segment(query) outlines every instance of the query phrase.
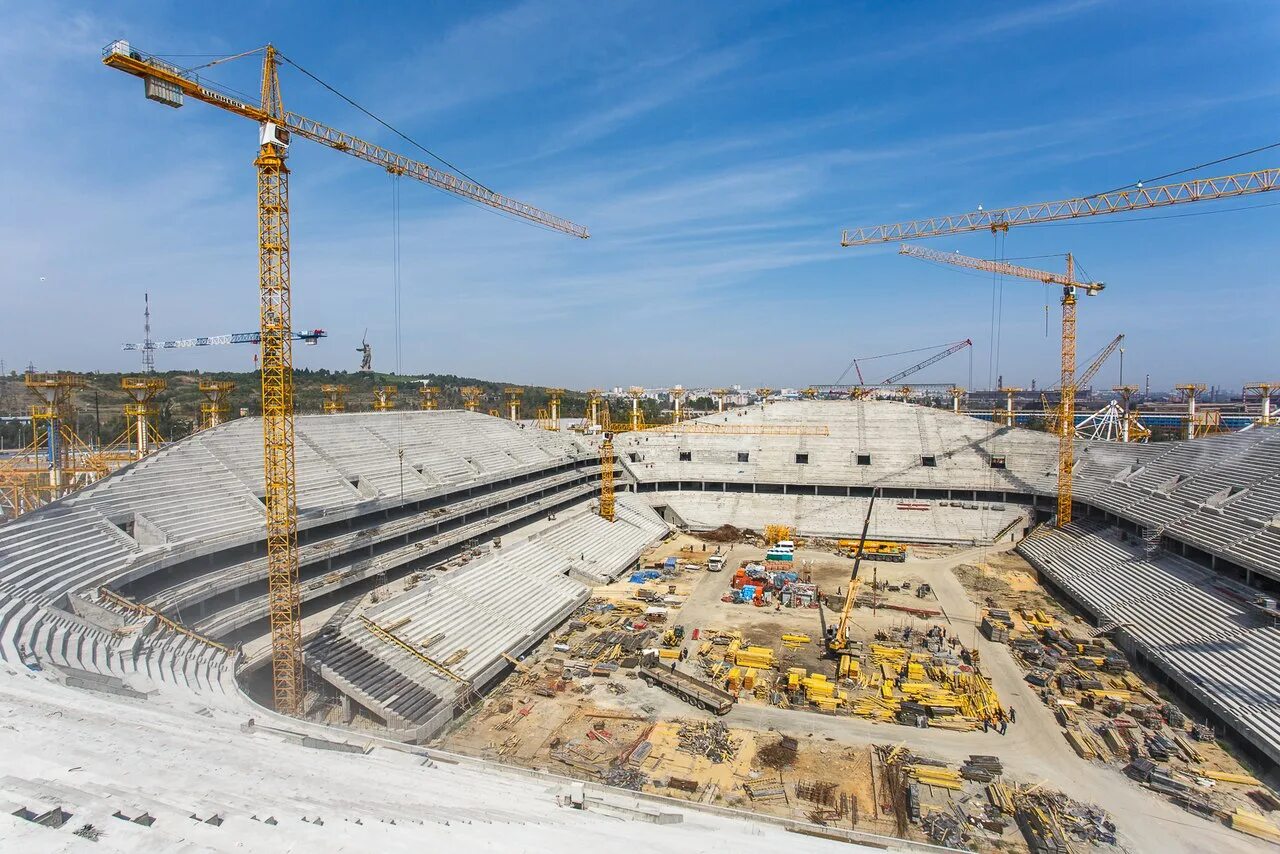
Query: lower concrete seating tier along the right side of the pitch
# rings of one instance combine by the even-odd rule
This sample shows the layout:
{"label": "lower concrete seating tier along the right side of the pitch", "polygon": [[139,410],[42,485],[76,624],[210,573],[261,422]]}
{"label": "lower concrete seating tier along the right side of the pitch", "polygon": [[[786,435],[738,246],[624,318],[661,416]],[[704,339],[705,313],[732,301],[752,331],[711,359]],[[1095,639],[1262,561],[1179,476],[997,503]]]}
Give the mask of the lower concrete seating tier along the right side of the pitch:
{"label": "lower concrete seating tier along the right side of the pitch", "polygon": [[1280,766],[1280,629],[1254,590],[1097,521],[1039,528],[1016,549],[1056,588],[1116,626],[1116,643]]}

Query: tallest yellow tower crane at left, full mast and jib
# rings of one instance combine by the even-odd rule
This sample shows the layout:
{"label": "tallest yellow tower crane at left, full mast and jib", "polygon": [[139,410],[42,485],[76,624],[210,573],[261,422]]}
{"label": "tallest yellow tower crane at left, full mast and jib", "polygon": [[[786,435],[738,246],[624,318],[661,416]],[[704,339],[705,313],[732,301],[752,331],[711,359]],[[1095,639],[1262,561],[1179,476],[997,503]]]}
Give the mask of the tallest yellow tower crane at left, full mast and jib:
{"label": "tallest yellow tower crane at left, full mast and jib", "polygon": [[[142,78],[146,97],[180,108],[186,99],[202,101],[259,125],[257,234],[259,302],[262,347],[262,460],[266,506],[268,612],[271,626],[271,693],[275,711],[302,711],[302,602],[298,592],[298,510],[293,458],[293,352],[289,330],[289,169],[285,164],[294,137],[311,140],[335,151],[381,166],[392,175],[408,177],[467,201],[535,223],[548,229],[586,238],[588,229],[567,219],[516,201],[488,187],[343,131],[284,109],[279,63],[291,63],[274,45],[260,49],[262,76],[260,100],[227,91],[154,55],[118,40],[102,51],[109,68]],[[250,51],[257,52],[257,51]],[[232,59],[232,58],[228,58]],[[294,65],[297,67],[297,65]]]}

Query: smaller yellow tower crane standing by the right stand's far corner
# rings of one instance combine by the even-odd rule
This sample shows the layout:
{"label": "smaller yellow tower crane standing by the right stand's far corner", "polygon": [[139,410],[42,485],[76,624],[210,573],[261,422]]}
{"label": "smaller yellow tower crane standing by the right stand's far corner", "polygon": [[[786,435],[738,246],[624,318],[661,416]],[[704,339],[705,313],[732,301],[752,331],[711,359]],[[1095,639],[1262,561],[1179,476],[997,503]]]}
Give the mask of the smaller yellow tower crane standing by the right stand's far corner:
{"label": "smaller yellow tower crane standing by the right stand's far corner", "polygon": [[[1068,254],[1066,273],[1034,270],[1004,261],[984,261],[955,252],[938,252],[919,246],[902,246],[902,255],[928,261],[942,261],[970,270],[986,270],[1062,287],[1062,379],[1057,424],[1057,524],[1071,521],[1071,467],[1075,461],[1075,291],[1084,288],[1088,296],[1102,291],[1101,282],[1079,282],[1075,278],[1075,259]],[[1009,425],[1012,426],[1012,391],[1009,396]]]}

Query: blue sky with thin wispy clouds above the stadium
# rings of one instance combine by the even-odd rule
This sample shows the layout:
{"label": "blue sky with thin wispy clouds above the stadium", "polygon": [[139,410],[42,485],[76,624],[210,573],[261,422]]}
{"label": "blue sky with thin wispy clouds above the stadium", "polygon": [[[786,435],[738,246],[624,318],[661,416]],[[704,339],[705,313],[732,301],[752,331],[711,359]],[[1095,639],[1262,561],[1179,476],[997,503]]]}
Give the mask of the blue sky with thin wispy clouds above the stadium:
{"label": "blue sky with thin wispy clouds above the stadium", "polygon": [[[850,356],[961,338],[974,387],[1051,383],[1041,286],[1005,282],[997,369],[989,277],[841,248],[841,228],[1085,195],[1280,141],[1270,1],[0,3],[8,367],[134,367],[119,343],[141,338],[145,291],[157,338],[256,328],[256,128],[146,101],[100,63],[116,37],[193,55],[273,41],[486,186],[590,227],[577,241],[401,188],[403,371],[573,388],[823,383]],[[210,76],[253,91],[256,63]],[[282,87],[289,109],[413,154],[297,72]],[[330,332],[296,361],[355,367],[367,328],[393,369],[392,179],[305,142],[291,169],[294,326]],[[1239,388],[1280,374],[1276,205],[927,245],[1073,251],[1107,283],[1082,303],[1082,356],[1124,332],[1126,382]],[[161,369],[251,360],[157,353]],[[919,379],[968,384],[969,360]]]}

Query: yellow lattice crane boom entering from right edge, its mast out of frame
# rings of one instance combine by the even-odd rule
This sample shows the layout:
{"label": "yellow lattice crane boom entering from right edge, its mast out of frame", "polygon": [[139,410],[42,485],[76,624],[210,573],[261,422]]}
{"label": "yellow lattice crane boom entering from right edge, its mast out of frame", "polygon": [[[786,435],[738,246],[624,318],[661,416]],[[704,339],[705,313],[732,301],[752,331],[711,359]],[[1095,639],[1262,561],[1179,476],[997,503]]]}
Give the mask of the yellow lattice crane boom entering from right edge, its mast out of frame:
{"label": "yellow lattice crane boom entering from right edge, its mast out of frame", "polygon": [[841,246],[868,246],[890,241],[914,241],[943,234],[963,234],[965,232],[1007,230],[1012,225],[1030,223],[1052,223],[1083,216],[1103,214],[1126,214],[1152,207],[1167,207],[1213,198],[1235,198],[1280,189],[1280,169],[1244,172],[1221,178],[1196,178],[1175,184],[1138,187],[1096,196],[1064,198],[1061,201],[1036,202],[998,210],[977,210],[951,216],[929,216],[905,223],[869,225],[845,229],[840,236]]}

